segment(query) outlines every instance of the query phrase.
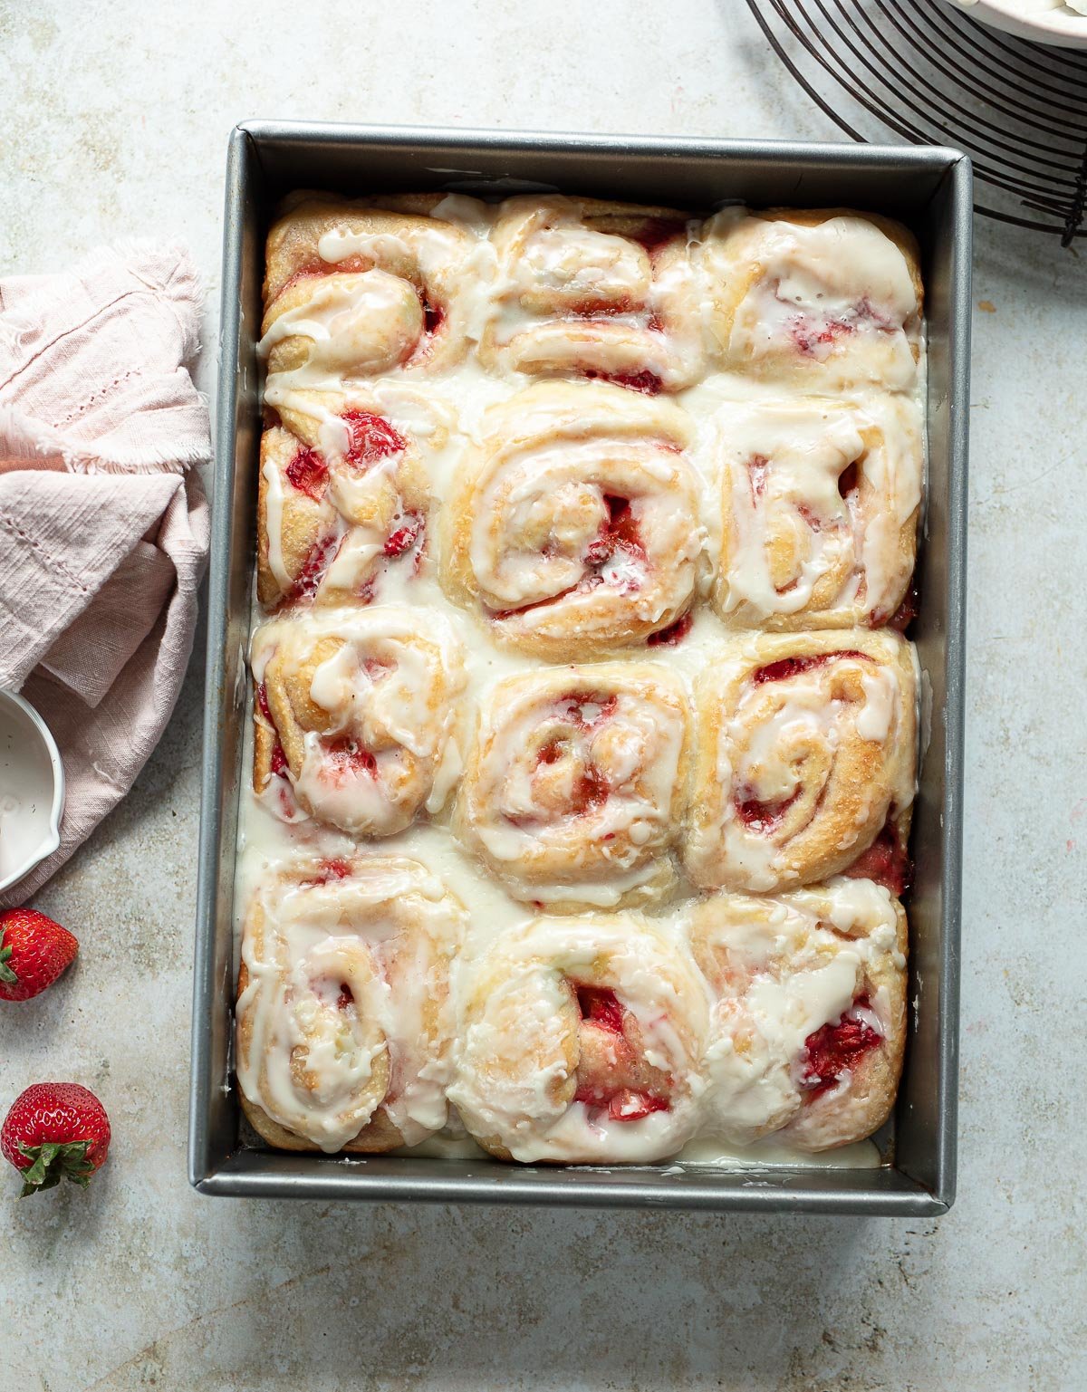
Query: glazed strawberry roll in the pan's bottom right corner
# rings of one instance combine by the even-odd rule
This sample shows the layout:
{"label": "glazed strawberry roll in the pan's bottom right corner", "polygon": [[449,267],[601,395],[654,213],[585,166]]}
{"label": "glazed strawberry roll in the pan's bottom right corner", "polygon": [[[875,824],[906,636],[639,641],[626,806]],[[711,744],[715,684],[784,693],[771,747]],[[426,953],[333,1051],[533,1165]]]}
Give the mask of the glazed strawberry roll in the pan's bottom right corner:
{"label": "glazed strawberry roll in the pan's bottom right corner", "polygon": [[871,1136],[895,1102],[906,1038],[906,915],[867,880],[690,910],[717,997],[706,1125],[818,1151]]}

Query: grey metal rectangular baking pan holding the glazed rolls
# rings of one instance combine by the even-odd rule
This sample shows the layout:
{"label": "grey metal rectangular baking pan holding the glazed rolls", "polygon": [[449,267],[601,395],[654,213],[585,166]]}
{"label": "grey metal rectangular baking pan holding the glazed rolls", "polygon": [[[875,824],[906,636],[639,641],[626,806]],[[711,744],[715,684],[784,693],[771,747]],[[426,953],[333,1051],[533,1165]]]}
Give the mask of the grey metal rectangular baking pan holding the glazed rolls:
{"label": "grey metal rectangular baking pan holding the glazed rolls", "polygon": [[[264,232],[294,188],[558,189],[707,210],[849,206],[907,223],[928,315],[928,511],[913,638],[931,738],[913,818],[910,1015],[894,1141],[875,1169],[633,1169],[284,1154],[239,1141],[231,1073],[232,896],[253,571]],[[526,135],[251,121],[227,160],[219,448],[207,633],[189,1178],[206,1194],[906,1214],[955,1194],[963,784],[970,161],[952,149]]]}

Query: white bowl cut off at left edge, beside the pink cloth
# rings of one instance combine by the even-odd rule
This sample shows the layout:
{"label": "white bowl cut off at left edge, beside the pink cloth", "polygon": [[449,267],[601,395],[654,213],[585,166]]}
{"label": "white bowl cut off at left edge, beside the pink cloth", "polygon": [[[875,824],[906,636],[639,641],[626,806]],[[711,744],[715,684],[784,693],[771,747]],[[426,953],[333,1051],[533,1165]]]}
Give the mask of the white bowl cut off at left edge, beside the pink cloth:
{"label": "white bowl cut off at left edge, beside the pink cloth", "polygon": [[60,845],[64,764],[49,727],[22,696],[0,690],[0,889]]}

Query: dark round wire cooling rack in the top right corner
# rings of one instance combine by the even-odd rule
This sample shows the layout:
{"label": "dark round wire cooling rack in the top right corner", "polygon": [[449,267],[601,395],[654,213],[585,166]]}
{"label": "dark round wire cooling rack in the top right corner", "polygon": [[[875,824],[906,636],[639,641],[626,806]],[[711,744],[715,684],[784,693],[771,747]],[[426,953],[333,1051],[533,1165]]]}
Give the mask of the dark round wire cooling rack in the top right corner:
{"label": "dark round wire cooling rack in the top right corner", "polygon": [[[946,0],[747,0],[781,61],[855,141],[955,145],[978,213],[1087,235],[1087,52],[999,33]],[[1087,25],[1087,19],[1084,19]]]}

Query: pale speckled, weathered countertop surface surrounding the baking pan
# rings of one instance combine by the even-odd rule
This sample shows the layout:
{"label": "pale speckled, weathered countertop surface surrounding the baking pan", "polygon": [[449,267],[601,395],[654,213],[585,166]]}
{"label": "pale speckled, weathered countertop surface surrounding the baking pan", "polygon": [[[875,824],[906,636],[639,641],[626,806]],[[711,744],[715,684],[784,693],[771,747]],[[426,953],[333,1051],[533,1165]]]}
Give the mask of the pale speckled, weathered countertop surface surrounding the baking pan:
{"label": "pale speckled, weathered countertop surface surrounding the baking pan", "polygon": [[[0,269],[182,237],[212,390],[244,117],[835,139],[742,0],[0,0]],[[202,663],[40,895],[78,967],[0,1016],[114,1121],[88,1194],[0,1175],[0,1388],[1087,1385],[1079,1136],[1087,264],[977,228],[962,1162],[939,1222],[202,1199],[185,1182]],[[200,638],[198,636],[198,643]]]}

